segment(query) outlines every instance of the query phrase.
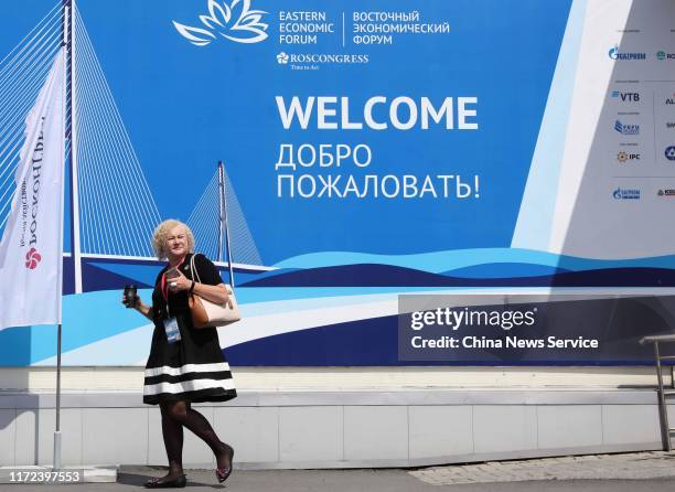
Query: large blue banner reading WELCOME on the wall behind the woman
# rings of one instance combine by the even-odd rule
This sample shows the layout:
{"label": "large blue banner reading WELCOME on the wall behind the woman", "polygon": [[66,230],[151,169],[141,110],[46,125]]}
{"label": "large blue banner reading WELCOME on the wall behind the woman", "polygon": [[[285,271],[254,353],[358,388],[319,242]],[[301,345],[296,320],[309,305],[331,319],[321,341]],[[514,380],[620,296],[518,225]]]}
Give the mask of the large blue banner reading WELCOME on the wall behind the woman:
{"label": "large blue banner reading WELCOME on the wall behind the woman", "polygon": [[[186,222],[227,277],[217,161],[244,313],[219,331],[233,364],[409,364],[401,293],[675,285],[656,225],[675,194],[668,28],[629,29],[663,9],[78,0],[64,363],[144,363],[152,329],[119,296],[136,284],[149,300],[160,220]],[[0,12],[11,136],[63,12],[50,0]],[[14,150],[2,151],[4,179]],[[628,170],[646,156],[663,169]],[[12,185],[0,183],[4,201]],[[1,364],[55,363],[54,328],[0,342]]]}

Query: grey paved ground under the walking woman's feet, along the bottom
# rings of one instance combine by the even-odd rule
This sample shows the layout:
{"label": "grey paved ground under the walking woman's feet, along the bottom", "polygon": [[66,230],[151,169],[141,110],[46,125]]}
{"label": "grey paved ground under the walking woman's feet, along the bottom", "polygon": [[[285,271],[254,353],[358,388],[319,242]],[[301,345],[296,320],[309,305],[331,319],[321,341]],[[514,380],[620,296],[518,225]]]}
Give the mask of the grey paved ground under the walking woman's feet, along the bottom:
{"label": "grey paved ground under the walking woman's feet, along the bottom", "polygon": [[[144,490],[156,467],[122,467],[117,483],[0,485],[0,491]],[[213,471],[189,470],[188,490],[246,492],[672,492],[675,453],[643,452],[518,460],[418,470],[235,470],[227,485]]]}

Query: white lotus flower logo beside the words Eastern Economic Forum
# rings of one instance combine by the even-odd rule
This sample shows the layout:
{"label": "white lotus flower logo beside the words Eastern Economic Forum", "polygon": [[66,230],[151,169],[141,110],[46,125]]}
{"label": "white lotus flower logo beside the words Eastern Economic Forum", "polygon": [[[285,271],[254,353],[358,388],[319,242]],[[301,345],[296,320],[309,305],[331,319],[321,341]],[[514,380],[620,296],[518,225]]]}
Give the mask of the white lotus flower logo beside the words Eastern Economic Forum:
{"label": "white lotus flower logo beside the words Eastern Economic Forum", "polygon": [[267,12],[250,10],[250,0],[232,0],[228,6],[208,0],[210,15],[200,15],[208,29],[191,28],[172,21],[178,32],[196,46],[205,46],[217,39],[216,34],[236,43],[259,43],[267,39],[268,25],[260,22]]}

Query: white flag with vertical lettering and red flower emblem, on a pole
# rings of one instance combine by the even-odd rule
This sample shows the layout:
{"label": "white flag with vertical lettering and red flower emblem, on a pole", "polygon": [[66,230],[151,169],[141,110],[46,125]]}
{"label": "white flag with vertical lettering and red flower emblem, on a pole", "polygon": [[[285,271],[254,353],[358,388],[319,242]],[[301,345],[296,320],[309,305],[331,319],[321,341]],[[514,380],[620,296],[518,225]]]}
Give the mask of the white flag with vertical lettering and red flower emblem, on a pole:
{"label": "white flag with vertical lettering and red flower emblem, on a pole", "polygon": [[0,240],[0,330],[61,323],[64,107],[61,49],[25,119],[17,192]]}

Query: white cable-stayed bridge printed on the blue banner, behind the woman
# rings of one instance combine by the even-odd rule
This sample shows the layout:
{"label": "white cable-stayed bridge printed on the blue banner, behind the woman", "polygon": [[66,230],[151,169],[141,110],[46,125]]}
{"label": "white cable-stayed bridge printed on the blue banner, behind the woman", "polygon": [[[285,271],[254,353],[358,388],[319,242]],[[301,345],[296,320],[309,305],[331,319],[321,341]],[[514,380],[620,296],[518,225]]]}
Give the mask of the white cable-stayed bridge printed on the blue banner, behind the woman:
{"label": "white cable-stayed bridge printed on the blue banner, behind the woman", "polygon": [[[25,117],[62,45],[63,15],[57,2],[0,61],[0,236],[15,192]],[[64,293],[117,289],[128,282],[151,286],[160,261],[150,238],[162,215],[76,7],[72,19],[66,94],[72,118],[68,114],[65,152],[71,164],[66,169],[73,172],[66,186]],[[228,267],[223,210],[234,270],[243,278],[270,270],[262,265],[226,171],[214,172],[192,213],[185,214],[197,250],[219,268]]]}

